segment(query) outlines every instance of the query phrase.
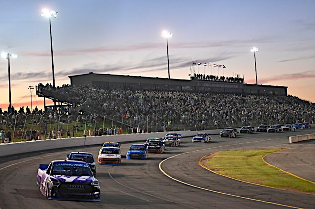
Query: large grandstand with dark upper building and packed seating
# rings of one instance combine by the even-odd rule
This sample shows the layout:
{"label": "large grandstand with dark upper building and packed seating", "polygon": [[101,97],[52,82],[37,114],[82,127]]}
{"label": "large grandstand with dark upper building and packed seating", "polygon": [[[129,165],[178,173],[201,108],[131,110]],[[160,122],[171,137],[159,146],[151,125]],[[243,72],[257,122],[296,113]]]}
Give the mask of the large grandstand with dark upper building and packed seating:
{"label": "large grandstand with dark upper building and packed seating", "polygon": [[314,104],[287,96],[283,86],[94,73],[69,78],[71,85],[63,87],[39,84],[36,94],[69,106],[72,118],[84,122],[98,115],[96,120],[104,117],[126,132],[138,126],[149,132],[256,127],[312,121],[315,116]]}

